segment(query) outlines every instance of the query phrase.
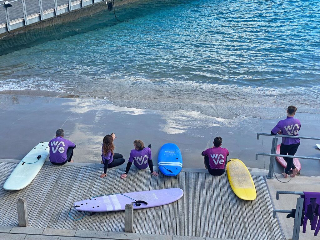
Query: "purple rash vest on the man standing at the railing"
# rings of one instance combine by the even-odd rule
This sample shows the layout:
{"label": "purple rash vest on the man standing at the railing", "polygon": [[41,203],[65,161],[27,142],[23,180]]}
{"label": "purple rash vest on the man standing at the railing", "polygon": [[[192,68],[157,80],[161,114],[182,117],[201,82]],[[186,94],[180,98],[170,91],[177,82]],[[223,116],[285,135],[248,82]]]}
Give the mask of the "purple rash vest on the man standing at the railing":
{"label": "purple rash vest on the man standing at the railing", "polygon": [[[301,123],[299,119],[293,117],[287,117],[284,120],[280,120],[276,127],[274,127],[271,132],[277,134],[281,130],[282,135],[288,136],[299,136],[298,132],[301,128]],[[282,143],[284,145],[291,145],[300,143],[299,138],[289,138],[289,137],[282,137]]]}

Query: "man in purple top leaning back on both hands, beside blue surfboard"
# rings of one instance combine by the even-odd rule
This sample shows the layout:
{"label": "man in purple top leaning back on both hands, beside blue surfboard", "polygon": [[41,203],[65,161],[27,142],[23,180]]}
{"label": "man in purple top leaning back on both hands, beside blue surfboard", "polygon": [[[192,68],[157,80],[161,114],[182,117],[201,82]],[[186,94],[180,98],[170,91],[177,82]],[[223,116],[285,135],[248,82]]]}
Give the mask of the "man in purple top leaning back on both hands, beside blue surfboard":
{"label": "man in purple top leaning back on both hands, beside blue surfboard", "polygon": [[149,145],[148,147],[144,147],[144,143],[141,140],[135,140],[133,142],[133,145],[134,149],[131,150],[127,167],[124,174],[122,174],[120,178],[124,179],[127,177],[132,162],[138,169],[146,169],[149,166],[151,174],[154,176],[159,176],[157,172],[153,171],[152,155],[150,149],[151,145]]}

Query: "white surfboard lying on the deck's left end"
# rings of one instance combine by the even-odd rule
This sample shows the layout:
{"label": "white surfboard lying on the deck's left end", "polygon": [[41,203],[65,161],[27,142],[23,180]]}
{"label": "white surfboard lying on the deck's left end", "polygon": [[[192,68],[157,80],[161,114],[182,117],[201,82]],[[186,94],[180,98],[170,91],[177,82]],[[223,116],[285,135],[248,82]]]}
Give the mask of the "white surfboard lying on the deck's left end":
{"label": "white surfboard lying on the deck's left end", "polygon": [[3,185],[5,190],[20,190],[32,182],[49,154],[48,144],[40,142],[19,162]]}

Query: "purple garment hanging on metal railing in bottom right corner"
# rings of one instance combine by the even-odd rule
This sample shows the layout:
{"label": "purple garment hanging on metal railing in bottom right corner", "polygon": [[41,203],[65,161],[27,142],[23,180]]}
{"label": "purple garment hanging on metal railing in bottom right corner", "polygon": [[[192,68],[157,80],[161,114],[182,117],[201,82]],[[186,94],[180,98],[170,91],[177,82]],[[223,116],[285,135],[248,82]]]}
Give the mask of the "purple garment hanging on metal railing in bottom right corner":
{"label": "purple garment hanging on metal railing in bottom right corner", "polygon": [[[302,232],[306,233],[307,222],[310,220],[311,230],[315,230],[315,236],[319,232],[317,227],[320,228],[319,217],[319,205],[320,205],[320,193],[315,192],[303,192],[304,193],[304,210],[305,216],[303,219]],[[318,224],[317,224],[318,222]],[[317,226],[318,225],[318,226]]]}

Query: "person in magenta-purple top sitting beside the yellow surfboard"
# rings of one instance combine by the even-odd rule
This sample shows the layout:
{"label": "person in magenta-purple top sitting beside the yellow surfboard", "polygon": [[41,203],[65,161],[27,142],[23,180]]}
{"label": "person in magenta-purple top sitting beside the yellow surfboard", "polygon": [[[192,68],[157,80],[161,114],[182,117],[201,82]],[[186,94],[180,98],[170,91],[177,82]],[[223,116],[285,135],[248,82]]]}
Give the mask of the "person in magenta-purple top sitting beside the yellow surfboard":
{"label": "person in magenta-purple top sitting beside the yellow surfboard", "polygon": [[212,148],[201,153],[204,156],[204,166],[213,176],[220,176],[226,171],[227,156],[229,151],[227,148],[222,148],[222,138],[215,137]]}

